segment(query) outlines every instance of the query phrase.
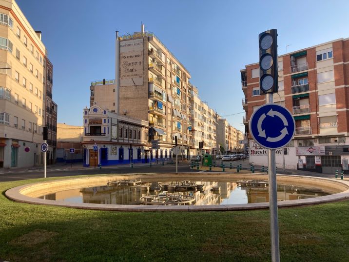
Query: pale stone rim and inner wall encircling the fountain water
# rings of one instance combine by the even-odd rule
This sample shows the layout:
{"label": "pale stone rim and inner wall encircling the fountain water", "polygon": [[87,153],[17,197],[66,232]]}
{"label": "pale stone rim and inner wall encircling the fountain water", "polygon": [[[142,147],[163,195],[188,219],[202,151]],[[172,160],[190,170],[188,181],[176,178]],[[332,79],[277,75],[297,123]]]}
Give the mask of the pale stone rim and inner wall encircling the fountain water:
{"label": "pale stone rim and inner wall encircling the fountain water", "polygon": [[[266,209],[269,208],[269,202],[250,203],[250,204],[224,204],[224,205],[184,205],[184,206],[153,206],[153,205],[119,205],[119,204],[94,204],[94,203],[67,203],[64,201],[52,201],[37,198],[45,195],[45,192],[54,192],[55,188],[78,188],[84,186],[97,186],[106,184],[109,180],[116,179],[136,179],[141,178],[145,181],[155,179],[161,180],[202,180],[202,181],[231,181],[242,179],[268,179],[268,174],[262,173],[146,173],[146,174],[110,174],[110,175],[90,175],[78,178],[58,179],[50,181],[42,181],[31,184],[25,184],[8,189],[5,195],[15,202],[24,202],[31,204],[44,204],[71,207],[78,209],[91,210],[109,210],[109,211],[232,211],[232,210],[249,210],[249,209]],[[199,178],[199,179],[198,179]],[[341,201],[349,199],[349,181],[299,176],[299,175],[277,175],[277,183],[297,184],[297,185],[313,185],[318,187],[326,187],[328,190],[338,191],[327,196],[279,201],[278,207],[302,206],[310,204],[319,204],[326,202]],[[66,189],[65,188],[65,189]],[[27,196],[32,195],[32,196]],[[35,197],[33,197],[33,195]]]}

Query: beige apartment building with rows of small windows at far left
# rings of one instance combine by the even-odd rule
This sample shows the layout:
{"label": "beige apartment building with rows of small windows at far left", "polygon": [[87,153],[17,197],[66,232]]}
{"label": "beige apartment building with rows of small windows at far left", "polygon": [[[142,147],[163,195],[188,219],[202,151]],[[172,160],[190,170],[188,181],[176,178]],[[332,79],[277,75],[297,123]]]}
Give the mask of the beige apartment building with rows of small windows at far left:
{"label": "beige apartment building with rows of small windows at far left", "polygon": [[[0,0],[0,167],[43,163],[46,54],[41,32],[32,28],[17,3]],[[52,141],[55,136],[51,132]],[[54,146],[50,143],[51,152]]]}

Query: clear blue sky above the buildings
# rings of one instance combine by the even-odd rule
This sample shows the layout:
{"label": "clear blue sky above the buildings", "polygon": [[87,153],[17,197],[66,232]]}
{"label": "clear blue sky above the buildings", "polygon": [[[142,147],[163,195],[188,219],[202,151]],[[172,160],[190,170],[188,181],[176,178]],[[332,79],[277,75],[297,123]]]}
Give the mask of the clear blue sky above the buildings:
{"label": "clear blue sky above the buildings", "polygon": [[[82,125],[90,82],[115,78],[115,31],[146,31],[184,64],[220,115],[243,112],[240,69],[258,61],[258,34],[278,30],[278,53],[349,37],[348,0],[17,0],[54,65],[58,122]],[[261,14],[266,14],[262,17]],[[227,117],[244,131],[243,114]]]}

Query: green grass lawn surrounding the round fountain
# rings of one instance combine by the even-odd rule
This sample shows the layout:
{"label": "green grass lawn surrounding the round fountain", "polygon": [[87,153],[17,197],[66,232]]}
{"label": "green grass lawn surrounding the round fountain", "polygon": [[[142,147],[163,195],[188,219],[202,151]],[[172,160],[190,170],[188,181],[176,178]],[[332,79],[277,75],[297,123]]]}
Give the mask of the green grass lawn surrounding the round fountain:
{"label": "green grass lawn surrounding the round fountain", "polygon": [[[269,262],[269,210],[110,212],[12,202],[0,183],[0,259],[10,262]],[[282,262],[348,262],[349,201],[279,209]]]}

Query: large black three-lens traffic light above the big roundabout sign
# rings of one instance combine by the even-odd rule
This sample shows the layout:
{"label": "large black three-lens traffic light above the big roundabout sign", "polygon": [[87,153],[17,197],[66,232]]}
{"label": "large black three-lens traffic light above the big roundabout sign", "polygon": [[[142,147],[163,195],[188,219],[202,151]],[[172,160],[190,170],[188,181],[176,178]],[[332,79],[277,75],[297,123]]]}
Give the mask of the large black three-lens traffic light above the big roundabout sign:
{"label": "large black three-lens traffic light above the big roundabout sign", "polygon": [[278,91],[276,29],[259,34],[259,88],[261,94]]}

